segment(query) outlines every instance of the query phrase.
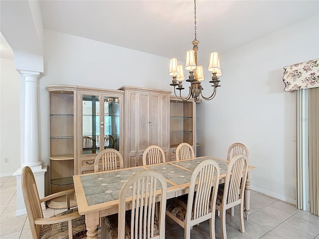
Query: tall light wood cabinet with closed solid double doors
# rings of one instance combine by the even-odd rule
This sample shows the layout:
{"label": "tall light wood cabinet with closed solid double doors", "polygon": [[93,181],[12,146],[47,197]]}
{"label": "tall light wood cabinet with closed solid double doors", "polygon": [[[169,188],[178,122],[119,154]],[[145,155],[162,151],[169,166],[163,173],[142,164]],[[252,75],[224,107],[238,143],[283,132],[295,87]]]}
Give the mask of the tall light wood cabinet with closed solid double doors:
{"label": "tall light wood cabinet with closed solid double doors", "polygon": [[124,86],[125,149],[124,166],[143,165],[143,152],[150,145],[160,146],[169,155],[170,91]]}

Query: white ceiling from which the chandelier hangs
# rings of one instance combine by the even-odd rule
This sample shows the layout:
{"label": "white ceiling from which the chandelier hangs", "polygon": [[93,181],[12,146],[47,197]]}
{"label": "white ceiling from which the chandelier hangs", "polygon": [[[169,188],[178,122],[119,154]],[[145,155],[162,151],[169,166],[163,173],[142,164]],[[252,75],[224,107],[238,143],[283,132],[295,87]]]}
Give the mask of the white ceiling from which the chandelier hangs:
{"label": "white ceiling from which the chandelier hangs", "polygon": [[[192,0],[40,0],[40,9],[45,29],[182,61],[192,48]],[[315,14],[318,0],[197,0],[198,58]]]}

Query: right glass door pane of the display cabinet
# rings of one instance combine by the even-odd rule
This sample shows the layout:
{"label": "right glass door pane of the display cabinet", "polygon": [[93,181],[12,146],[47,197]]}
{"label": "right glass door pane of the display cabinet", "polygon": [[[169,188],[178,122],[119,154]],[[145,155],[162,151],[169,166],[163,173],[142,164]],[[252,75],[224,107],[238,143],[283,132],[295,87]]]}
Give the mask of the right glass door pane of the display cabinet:
{"label": "right glass door pane of the display cabinet", "polygon": [[104,148],[120,150],[120,99],[104,96]]}

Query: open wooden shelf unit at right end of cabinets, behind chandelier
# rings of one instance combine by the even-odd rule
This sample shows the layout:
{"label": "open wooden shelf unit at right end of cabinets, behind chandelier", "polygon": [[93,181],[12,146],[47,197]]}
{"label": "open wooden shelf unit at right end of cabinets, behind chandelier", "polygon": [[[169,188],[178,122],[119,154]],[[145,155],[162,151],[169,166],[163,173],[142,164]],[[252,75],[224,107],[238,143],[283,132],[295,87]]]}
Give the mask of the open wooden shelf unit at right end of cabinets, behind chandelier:
{"label": "open wooden shelf unit at right end of cabinets, behind chandelier", "polygon": [[197,146],[200,144],[197,143],[196,104],[193,99],[182,101],[170,96],[169,147],[171,161],[176,160],[176,147],[183,142],[191,145],[194,155],[197,155]]}

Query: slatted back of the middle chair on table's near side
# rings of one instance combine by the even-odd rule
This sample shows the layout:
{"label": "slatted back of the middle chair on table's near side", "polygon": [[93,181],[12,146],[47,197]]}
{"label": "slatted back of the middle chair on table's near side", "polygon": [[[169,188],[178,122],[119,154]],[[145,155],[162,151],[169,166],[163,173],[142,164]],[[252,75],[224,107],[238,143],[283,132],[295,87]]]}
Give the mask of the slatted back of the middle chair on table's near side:
{"label": "slatted back of the middle chair on table's near side", "polygon": [[[219,166],[216,161],[212,159],[201,162],[195,168],[190,179],[185,221],[191,219],[192,211],[192,220],[203,217],[209,213],[215,214],[219,176]],[[196,181],[197,188],[194,197]]]}

